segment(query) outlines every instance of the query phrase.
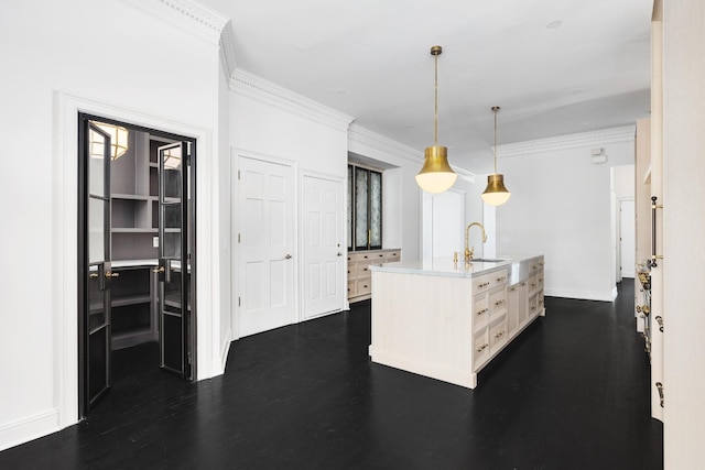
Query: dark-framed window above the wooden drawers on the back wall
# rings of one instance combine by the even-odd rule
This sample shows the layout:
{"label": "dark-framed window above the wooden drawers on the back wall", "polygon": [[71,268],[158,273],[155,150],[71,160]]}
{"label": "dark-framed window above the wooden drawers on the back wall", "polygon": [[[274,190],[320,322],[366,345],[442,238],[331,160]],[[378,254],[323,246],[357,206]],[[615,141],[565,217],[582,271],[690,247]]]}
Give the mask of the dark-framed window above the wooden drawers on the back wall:
{"label": "dark-framed window above the wooden drawers on the back wall", "polygon": [[382,173],[348,165],[348,250],[382,248]]}

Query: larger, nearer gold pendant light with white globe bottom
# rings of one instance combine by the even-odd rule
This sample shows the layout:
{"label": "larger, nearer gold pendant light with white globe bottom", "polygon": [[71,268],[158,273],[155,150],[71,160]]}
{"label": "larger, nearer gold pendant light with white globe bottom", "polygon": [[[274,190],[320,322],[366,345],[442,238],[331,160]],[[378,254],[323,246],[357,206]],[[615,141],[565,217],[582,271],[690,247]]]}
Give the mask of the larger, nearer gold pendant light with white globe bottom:
{"label": "larger, nearer gold pendant light with white globe bottom", "polygon": [[416,184],[426,193],[444,193],[455,184],[458,175],[448,164],[448,149],[438,145],[438,55],[441,46],[431,47],[431,55],[435,58],[435,107],[433,114],[433,146],[424,152],[423,166],[416,175]]}

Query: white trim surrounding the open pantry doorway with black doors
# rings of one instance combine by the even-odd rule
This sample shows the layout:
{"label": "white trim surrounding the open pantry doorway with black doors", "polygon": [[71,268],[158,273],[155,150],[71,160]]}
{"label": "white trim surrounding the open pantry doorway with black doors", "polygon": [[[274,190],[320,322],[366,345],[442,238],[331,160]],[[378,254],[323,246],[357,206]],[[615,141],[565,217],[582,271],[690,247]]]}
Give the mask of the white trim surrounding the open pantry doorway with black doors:
{"label": "white trim surrounding the open pantry doorway with black doors", "polygon": [[[215,175],[212,155],[210,132],[203,128],[145,114],[105,102],[54,92],[54,168],[52,188],[52,226],[54,256],[52,259],[52,298],[56,305],[53,329],[54,342],[54,403],[57,412],[56,427],[64,428],[78,420],[78,113],[101,116],[106,119],[130,122],[144,128],[184,135],[196,140],[198,172],[196,172],[196,318],[197,380],[223,373],[214,363],[213,350],[217,345],[219,323],[214,318],[213,298],[219,296],[217,280],[219,266],[210,241],[218,233],[213,215],[213,200],[217,199],[218,185],[210,184]],[[217,247],[217,243],[216,243]],[[209,288],[208,288],[209,287]],[[215,340],[214,340],[215,338]],[[219,349],[219,348],[218,348]]]}

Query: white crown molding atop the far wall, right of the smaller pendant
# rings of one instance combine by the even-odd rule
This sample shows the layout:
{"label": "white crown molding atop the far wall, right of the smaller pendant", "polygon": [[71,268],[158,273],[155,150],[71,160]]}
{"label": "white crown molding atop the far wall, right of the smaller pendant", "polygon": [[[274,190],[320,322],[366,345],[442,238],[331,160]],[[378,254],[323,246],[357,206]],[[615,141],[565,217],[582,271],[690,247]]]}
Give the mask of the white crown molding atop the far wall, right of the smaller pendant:
{"label": "white crown molding atop the far wall, right of the smaller pendant", "polygon": [[560,150],[605,145],[610,143],[633,142],[636,131],[636,125],[622,125],[619,128],[603,129],[599,131],[581,132],[576,134],[497,145],[497,157],[500,159],[529,155],[533,153],[555,152]]}

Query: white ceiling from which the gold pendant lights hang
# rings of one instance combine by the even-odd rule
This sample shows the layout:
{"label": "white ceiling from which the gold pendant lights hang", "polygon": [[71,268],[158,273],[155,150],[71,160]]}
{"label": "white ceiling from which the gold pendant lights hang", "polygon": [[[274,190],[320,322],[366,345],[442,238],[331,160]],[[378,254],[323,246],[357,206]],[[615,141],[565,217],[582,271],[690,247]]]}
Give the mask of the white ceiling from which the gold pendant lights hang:
{"label": "white ceiling from which the gold pendant lights hang", "polygon": [[492,106],[499,144],[649,114],[651,0],[200,1],[232,20],[238,68],[419,151],[443,46],[438,144],[476,174],[491,173]]}

